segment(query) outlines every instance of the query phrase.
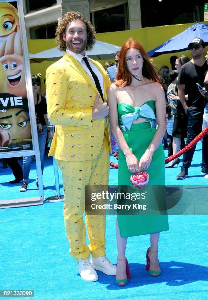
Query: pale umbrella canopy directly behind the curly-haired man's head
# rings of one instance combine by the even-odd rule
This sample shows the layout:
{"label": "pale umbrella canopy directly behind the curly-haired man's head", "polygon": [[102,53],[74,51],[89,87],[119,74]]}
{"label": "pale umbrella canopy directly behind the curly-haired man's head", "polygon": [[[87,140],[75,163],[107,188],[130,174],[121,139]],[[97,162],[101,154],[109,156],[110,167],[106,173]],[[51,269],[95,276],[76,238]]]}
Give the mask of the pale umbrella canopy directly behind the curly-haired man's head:
{"label": "pale umbrella canopy directly behind the curly-haired man's head", "polygon": [[[121,49],[120,46],[96,41],[91,51],[87,51],[86,54],[93,59],[112,59],[115,53]],[[65,52],[58,50],[57,47],[36,53],[29,54],[31,60],[43,61],[43,60],[57,60],[62,57]]]}

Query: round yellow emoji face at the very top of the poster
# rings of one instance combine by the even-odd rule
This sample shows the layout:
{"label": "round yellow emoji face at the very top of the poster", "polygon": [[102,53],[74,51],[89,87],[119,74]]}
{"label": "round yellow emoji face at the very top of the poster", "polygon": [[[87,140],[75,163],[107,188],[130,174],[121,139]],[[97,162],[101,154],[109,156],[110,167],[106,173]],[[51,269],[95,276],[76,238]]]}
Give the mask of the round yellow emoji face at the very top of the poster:
{"label": "round yellow emoji face at the very top of the poster", "polygon": [[0,45],[11,33],[17,32],[18,25],[17,9],[10,3],[0,3]]}

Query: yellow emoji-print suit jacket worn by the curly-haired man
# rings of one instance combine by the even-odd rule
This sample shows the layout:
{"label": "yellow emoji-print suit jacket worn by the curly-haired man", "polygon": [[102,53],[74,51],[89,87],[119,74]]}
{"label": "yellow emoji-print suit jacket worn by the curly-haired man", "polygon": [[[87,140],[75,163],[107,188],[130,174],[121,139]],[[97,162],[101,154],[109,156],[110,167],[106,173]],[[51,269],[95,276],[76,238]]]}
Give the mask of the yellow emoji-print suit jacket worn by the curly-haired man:
{"label": "yellow emoji-print suit jacket worn by the curly-haired man", "polygon": [[[91,61],[103,75],[106,101],[109,76],[100,63]],[[92,120],[99,92],[90,75],[70,54],[64,54],[46,70],[46,93],[48,116],[56,125],[49,156],[66,161],[92,160],[98,156],[104,138],[111,150],[108,121],[105,125],[105,119]]]}

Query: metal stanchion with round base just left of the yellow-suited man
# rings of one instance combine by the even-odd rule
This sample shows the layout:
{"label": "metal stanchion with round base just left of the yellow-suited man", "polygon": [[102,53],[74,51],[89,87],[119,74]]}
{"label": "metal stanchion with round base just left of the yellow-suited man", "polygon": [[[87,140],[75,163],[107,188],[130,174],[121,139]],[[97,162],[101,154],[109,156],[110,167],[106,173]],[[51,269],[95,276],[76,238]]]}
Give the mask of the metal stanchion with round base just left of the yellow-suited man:
{"label": "metal stanchion with round base just left of the yellow-suited man", "polygon": [[[55,132],[55,125],[49,125],[48,127],[50,128],[50,138],[52,141]],[[54,157],[53,157],[53,171],[54,171],[54,178],[55,178],[56,195],[46,198],[45,202],[62,202],[64,195],[61,195],[60,192],[58,166],[56,163],[56,159]]]}

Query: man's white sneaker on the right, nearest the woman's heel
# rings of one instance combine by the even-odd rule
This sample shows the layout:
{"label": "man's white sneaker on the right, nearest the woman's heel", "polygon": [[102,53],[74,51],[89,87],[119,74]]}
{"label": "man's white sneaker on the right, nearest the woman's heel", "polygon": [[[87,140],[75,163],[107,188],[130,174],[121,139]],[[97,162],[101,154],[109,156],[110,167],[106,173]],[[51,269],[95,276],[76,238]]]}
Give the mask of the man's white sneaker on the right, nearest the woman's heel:
{"label": "man's white sneaker on the right, nearest the woman's heel", "polygon": [[99,270],[107,275],[116,276],[116,266],[112,265],[106,256],[92,257],[90,262],[95,270]]}

